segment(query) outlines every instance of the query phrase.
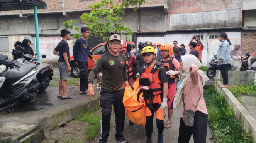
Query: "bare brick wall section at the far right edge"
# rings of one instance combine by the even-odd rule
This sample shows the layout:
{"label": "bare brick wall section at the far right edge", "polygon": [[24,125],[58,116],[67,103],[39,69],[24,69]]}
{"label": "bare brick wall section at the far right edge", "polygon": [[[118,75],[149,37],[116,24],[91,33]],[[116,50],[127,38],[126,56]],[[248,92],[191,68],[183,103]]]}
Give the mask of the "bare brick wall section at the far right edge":
{"label": "bare brick wall section at the far right edge", "polygon": [[243,54],[256,51],[256,31],[242,31],[241,48]]}

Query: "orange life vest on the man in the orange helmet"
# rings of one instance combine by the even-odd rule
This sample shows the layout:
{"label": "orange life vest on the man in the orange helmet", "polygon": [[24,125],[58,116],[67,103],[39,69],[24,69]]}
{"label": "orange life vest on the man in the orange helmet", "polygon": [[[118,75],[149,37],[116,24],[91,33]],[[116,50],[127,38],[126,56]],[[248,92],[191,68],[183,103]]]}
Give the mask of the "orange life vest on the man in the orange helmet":
{"label": "orange life vest on the man in the orange helmet", "polygon": [[[159,62],[162,63],[162,66],[164,67],[165,71],[175,70],[175,67],[174,67],[174,64],[173,64],[173,58],[174,57],[170,57],[170,59],[168,61],[166,61],[167,63],[163,63],[163,58],[161,58],[159,60]],[[168,75],[168,84],[175,83],[175,78],[177,78],[176,75],[173,75],[173,76]]]}

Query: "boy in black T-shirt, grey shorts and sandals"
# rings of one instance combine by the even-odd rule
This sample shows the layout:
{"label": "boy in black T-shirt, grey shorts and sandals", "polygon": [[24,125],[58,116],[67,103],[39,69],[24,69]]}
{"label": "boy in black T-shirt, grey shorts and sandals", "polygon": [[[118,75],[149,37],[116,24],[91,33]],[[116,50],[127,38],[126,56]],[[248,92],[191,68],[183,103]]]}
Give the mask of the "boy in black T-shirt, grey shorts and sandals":
{"label": "boy in black T-shirt, grey shorts and sandals", "polygon": [[70,40],[70,31],[63,29],[61,30],[62,40],[59,42],[57,47],[53,50],[53,54],[59,56],[58,67],[60,73],[59,80],[59,95],[61,99],[72,99],[72,96],[66,94],[67,90],[67,80],[68,72],[71,71],[70,67],[70,48],[68,46],[67,40]]}

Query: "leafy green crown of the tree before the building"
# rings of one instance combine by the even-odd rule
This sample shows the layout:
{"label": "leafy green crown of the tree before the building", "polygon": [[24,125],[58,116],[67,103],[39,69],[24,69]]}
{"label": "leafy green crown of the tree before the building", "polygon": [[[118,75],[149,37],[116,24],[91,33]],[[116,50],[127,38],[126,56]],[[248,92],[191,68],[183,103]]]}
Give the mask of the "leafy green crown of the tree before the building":
{"label": "leafy green crown of the tree before the building", "polygon": [[[116,4],[113,0],[102,0],[101,3],[95,3],[89,5],[92,10],[90,13],[83,13],[80,19],[87,23],[87,27],[90,29],[90,36],[100,37],[104,43],[108,43],[110,36],[112,34],[127,33],[132,35],[132,30],[128,26],[124,26],[122,21],[122,16],[125,10],[132,6],[134,11],[140,8],[145,0],[119,0]],[[105,21],[104,23],[102,21]],[[64,22],[65,28],[73,29],[73,25],[76,25],[76,20],[68,20]],[[81,33],[79,27],[75,27],[79,33],[75,33],[73,38],[80,38]]]}

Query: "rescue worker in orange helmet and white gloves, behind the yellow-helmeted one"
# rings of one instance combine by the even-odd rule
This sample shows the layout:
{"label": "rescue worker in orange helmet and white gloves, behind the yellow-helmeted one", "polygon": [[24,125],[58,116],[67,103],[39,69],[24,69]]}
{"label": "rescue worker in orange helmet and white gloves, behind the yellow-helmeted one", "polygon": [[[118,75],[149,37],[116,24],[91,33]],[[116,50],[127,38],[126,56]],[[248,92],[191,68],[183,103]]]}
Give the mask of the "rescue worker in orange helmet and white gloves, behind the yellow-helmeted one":
{"label": "rescue worker in orange helmet and white gloves, behind the yellow-helmeted one", "polygon": [[[178,75],[178,71],[180,70],[180,63],[176,58],[171,57],[171,54],[173,53],[173,47],[170,44],[163,44],[160,47],[160,52],[163,58],[159,60],[159,62],[162,63],[162,66],[164,67],[166,74],[168,76],[168,98],[167,101],[168,105],[168,119],[166,121],[166,124],[164,128],[171,128],[171,117],[173,115],[173,99],[176,94],[176,78]],[[171,76],[170,76],[170,75]],[[175,76],[176,75],[176,76]]]}

